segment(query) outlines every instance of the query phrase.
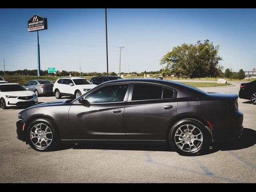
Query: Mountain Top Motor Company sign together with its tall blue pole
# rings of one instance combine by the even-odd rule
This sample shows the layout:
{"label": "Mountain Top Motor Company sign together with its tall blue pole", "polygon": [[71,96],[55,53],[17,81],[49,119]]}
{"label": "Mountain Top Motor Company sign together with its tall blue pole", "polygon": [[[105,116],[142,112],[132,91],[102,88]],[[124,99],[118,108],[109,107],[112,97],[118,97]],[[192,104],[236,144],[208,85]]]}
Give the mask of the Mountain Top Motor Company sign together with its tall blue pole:
{"label": "Mountain Top Motor Company sign together with its tall blue pole", "polygon": [[39,46],[39,30],[47,29],[47,18],[34,15],[28,20],[28,32],[37,32],[37,76],[40,76],[40,46]]}

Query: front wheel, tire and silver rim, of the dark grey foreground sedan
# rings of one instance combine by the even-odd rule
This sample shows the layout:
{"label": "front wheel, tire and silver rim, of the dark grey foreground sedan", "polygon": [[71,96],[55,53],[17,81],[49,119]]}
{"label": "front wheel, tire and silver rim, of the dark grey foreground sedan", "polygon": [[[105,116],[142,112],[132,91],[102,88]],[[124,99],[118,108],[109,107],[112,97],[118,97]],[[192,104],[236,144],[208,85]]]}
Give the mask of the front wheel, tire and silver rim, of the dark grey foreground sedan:
{"label": "front wheel, tire and silver rim, of the dark grey foreground sedan", "polygon": [[48,151],[59,144],[58,134],[51,120],[40,118],[33,120],[26,131],[26,141],[35,150]]}

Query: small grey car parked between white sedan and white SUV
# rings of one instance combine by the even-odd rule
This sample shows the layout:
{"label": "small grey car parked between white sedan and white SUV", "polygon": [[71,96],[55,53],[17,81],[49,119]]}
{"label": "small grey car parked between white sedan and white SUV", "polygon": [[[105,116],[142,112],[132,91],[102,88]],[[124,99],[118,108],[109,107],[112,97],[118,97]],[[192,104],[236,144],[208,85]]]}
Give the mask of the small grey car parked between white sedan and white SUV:
{"label": "small grey car parked between white sedan and white SUV", "polygon": [[32,80],[24,84],[23,87],[34,92],[37,96],[41,94],[52,94],[53,82],[45,79]]}

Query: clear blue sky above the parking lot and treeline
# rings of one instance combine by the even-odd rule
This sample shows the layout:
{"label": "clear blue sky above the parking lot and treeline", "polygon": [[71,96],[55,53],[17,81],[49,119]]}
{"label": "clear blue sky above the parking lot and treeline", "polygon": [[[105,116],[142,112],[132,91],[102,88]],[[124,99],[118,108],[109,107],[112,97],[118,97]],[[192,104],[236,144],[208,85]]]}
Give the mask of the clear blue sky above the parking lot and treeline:
{"label": "clear blue sky above the parking lot and treeline", "polygon": [[[0,9],[0,70],[37,69],[37,33],[28,20],[48,20],[39,31],[41,69],[106,72],[104,9]],[[256,9],[107,9],[108,70],[160,70],[174,46],[210,40],[233,71],[256,67]]]}

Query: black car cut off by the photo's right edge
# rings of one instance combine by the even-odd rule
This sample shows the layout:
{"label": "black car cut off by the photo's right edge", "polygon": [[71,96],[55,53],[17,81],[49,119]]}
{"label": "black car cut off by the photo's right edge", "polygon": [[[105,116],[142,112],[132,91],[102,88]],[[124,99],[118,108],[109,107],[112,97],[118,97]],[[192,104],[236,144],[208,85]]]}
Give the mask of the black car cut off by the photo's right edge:
{"label": "black car cut off by the photo's right edge", "polygon": [[240,85],[239,98],[251,100],[256,104],[256,80]]}

